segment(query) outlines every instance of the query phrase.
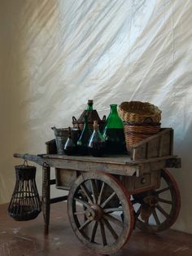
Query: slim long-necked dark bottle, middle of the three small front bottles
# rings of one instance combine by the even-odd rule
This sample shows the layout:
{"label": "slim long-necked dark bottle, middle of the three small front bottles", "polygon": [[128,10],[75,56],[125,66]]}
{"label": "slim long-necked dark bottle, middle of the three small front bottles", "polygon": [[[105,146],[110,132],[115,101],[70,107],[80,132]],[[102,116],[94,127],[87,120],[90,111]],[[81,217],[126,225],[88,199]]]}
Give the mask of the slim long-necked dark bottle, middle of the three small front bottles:
{"label": "slim long-necked dark bottle, middle of the three small front bottles", "polygon": [[80,139],[78,139],[77,141],[77,150],[81,155],[87,155],[89,153],[88,143],[89,143],[90,135],[91,135],[91,131],[89,130],[88,117],[86,115],[84,128],[81,132]]}

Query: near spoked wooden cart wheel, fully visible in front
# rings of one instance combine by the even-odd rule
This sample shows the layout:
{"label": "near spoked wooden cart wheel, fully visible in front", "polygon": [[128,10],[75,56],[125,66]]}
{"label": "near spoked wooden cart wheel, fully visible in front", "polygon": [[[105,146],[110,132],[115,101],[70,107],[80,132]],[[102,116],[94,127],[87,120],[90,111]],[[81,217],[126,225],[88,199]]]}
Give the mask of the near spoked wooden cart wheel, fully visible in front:
{"label": "near spoked wooden cart wheel, fully visible in front", "polygon": [[128,193],[113,176],[100,171],[81,174],[72,184],[68,217],[79,240],[98,254],[116,252],[133,231]]}

